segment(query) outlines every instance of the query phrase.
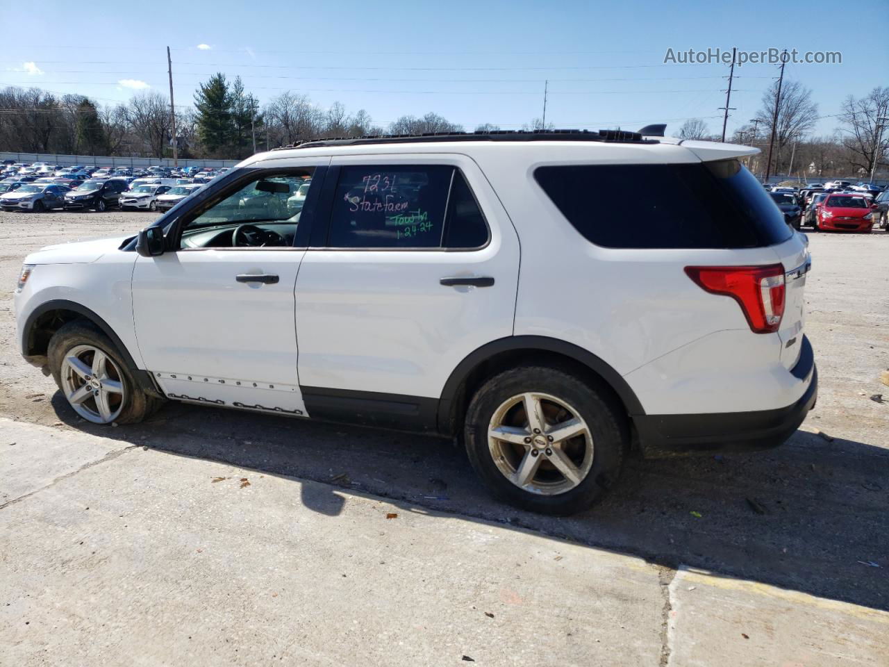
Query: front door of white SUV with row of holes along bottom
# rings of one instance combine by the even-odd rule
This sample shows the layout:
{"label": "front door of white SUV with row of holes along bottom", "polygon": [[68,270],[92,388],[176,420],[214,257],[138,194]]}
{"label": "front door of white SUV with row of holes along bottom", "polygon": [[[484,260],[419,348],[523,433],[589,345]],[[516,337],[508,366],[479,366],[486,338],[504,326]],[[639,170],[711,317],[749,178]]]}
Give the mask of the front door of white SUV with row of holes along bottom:
{"label": "front door of white SUV with row of holes along bottom", "polygon": [[251,170],[183,213],[172,252],[136,261],[139,349],[168,397],[305,414],[293,321],[305,249],[294,247],[301,213],[289,200],[313,171]]}

